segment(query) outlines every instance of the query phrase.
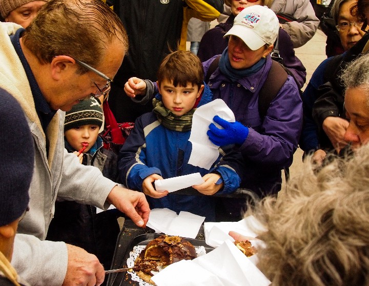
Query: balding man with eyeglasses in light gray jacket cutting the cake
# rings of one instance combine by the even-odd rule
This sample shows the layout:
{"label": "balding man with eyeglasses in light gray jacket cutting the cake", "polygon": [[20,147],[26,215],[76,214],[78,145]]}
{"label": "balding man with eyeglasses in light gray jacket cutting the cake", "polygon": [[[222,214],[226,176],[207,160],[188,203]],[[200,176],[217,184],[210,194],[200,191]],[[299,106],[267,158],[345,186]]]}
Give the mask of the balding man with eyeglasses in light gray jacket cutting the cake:
{"label": "balding man with eyeglasses in light gray jacket cutting the cake", "polygon": [[138,226],[148,221],[144,194],[119,187],[64,148],[64,111],[109,92],[128,49],[125,28],[100,0],[52,0],[27,30],[0,23],[0,41],[0,88],[26,114],[35,159],[30,211],[19,223],[12,265],[32,285],[100,285],[105,272],[96,256],[45,237],[56,200],[113,204]]}

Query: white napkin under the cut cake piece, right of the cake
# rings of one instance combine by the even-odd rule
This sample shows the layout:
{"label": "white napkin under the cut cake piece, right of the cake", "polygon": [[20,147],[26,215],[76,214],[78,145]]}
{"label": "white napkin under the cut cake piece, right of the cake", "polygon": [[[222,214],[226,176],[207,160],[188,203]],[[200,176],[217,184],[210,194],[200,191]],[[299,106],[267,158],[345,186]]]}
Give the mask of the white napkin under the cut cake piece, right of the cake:
{"label": "white napkin under the cut cake piece, right of the cake", "polygon": [[257,234],[254,232],[254,228],[261,232],[267,231],[267,229],[254,216],[249,216],[238,222],[205,222],[205,242],[210,246],[218,247],[226,240],[234,241],[234,239],[228,234],[230,231],[237,232],[250,238],[255,238]]}

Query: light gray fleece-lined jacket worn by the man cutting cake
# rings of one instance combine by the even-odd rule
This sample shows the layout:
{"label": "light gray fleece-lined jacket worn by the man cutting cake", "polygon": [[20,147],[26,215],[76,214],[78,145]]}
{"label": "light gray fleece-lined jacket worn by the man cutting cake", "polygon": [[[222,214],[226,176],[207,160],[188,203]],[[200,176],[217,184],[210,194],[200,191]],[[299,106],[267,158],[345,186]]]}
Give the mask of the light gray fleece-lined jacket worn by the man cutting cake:
{"label": "light gray fleece-lined jacket worn by the man cutting cake", "polygon": [[17,99],[25,112],[34,139],[35,167],[29,191],[30,211],[18,226],[11,263],[31,285],[58,286],[67,272],[67,246],[45,241],[56,197],[107,209],[106,198],[116,183],[99,169],[79,164],[78,158],[64,148],[64,111],[56,112],[45,134],[26,72],[9,37],[19,28],[13,23],[0,23],[0,87]]}

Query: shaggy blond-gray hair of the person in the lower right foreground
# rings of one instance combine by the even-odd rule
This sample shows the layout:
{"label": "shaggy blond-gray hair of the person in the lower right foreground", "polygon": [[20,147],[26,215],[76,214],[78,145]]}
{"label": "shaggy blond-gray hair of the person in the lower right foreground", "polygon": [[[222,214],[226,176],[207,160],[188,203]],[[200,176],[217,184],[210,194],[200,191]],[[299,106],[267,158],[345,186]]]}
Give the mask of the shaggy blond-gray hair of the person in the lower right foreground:
{"label": "shaggy blond-gray hair of the person in the lower right foreground", "polygon": [[258,267],[278,286],[369,285],[369,146],[319,170],[310,161],[247,213],[268,228]]}

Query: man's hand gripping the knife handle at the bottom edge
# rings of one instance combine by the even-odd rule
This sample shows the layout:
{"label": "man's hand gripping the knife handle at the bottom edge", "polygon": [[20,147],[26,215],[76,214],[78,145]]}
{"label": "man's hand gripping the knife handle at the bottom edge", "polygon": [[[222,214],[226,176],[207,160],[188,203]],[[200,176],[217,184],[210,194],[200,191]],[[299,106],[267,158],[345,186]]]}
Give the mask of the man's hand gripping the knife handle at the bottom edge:
{"label": "man's hand gripping the knife handle at the bottom edge", "polygon": [[67,250],[68,267],[63,286],[98,286],[104,282],[104,267],[95,255],[70,244]]}

